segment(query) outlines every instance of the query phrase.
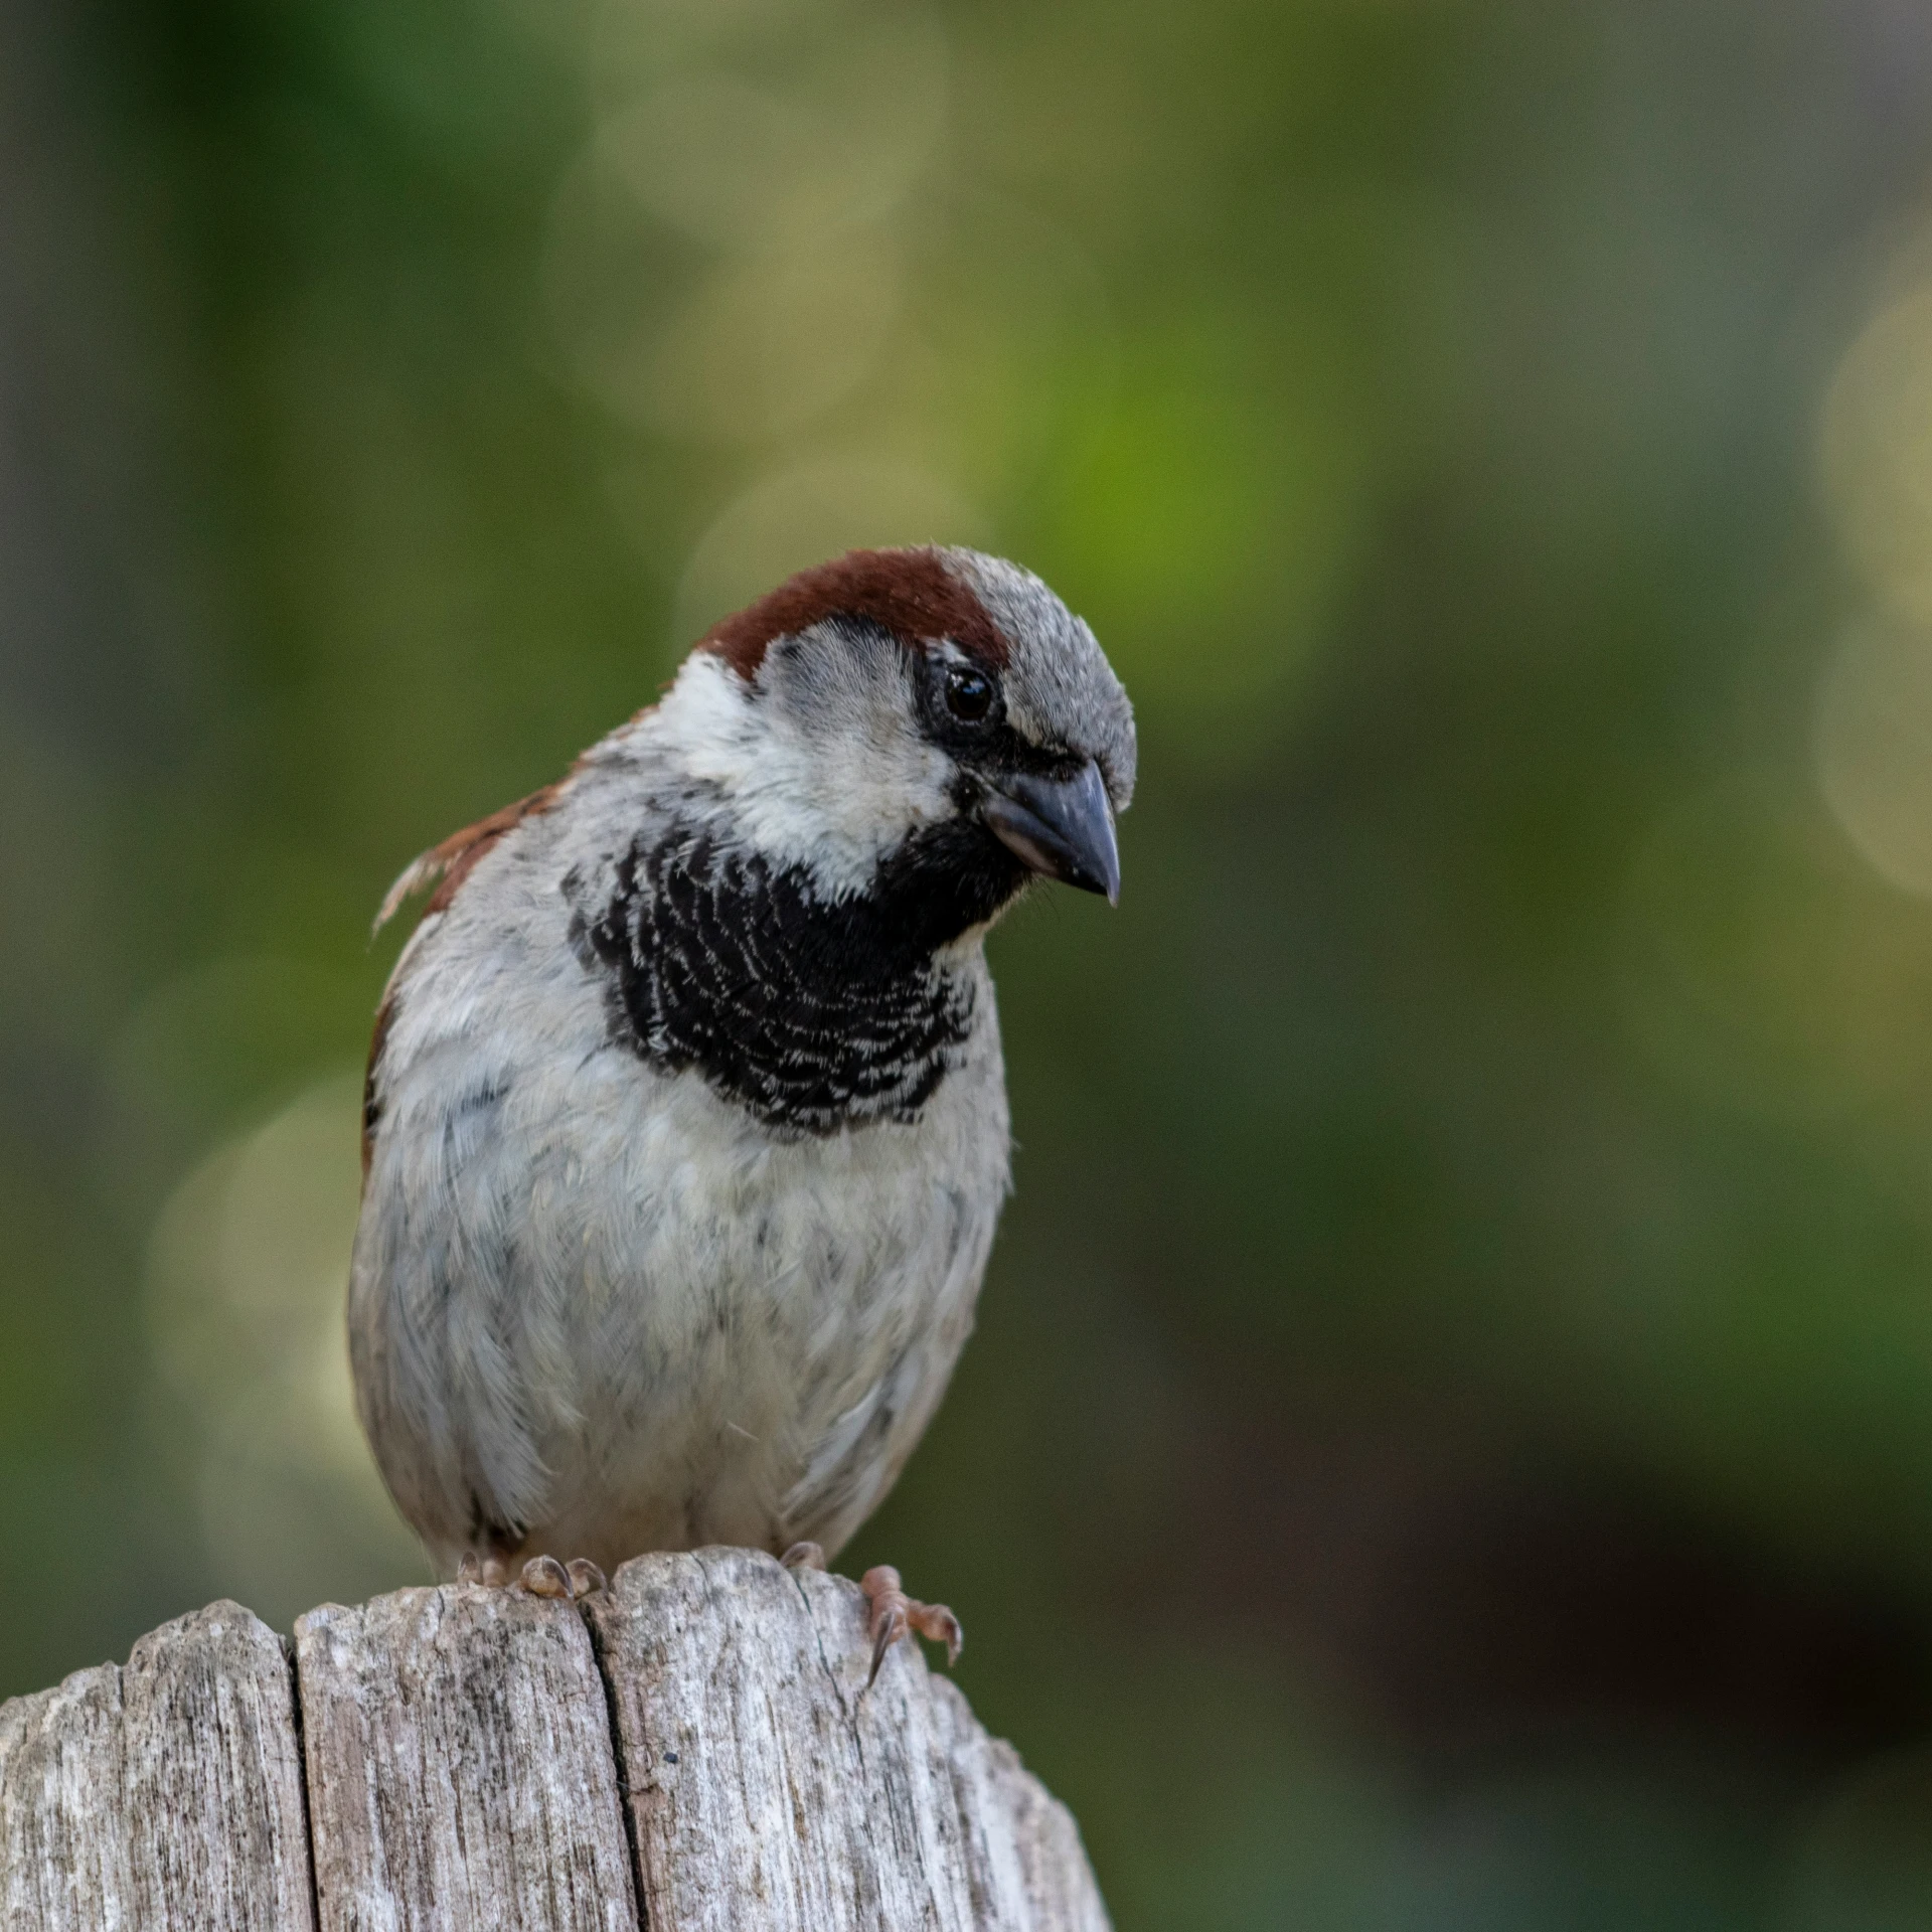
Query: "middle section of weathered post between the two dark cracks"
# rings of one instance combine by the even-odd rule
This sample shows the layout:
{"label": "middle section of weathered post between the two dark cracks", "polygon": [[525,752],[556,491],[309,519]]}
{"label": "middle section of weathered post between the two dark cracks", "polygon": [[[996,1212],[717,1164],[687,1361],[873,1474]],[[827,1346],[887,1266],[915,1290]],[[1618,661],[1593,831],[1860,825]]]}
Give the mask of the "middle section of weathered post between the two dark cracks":
{"label": "middle section of weathered post between the two dark cracks", "polygon": [[583,1619],[522,1590],[402,1590],[296,1625],[323,1932],[636,1932]]}

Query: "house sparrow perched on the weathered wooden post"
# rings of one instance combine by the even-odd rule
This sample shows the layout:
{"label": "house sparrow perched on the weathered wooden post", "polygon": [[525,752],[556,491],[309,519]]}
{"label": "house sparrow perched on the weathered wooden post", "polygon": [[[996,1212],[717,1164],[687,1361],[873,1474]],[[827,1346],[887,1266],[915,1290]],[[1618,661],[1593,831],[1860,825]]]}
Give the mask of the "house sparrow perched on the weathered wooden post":
{"label": "house sparrow perched on the weathered wooden post", "polygon": [[[444,1575],[821,1557],[972,1327],[1009,1188],[981,951],[1119,893],[1134,717],[1037,578],[854,551],[713,628],[568,777],[423,854],[377,1014],[355,1401]],[[958,1625],[866,1578],[875,1667]]]}

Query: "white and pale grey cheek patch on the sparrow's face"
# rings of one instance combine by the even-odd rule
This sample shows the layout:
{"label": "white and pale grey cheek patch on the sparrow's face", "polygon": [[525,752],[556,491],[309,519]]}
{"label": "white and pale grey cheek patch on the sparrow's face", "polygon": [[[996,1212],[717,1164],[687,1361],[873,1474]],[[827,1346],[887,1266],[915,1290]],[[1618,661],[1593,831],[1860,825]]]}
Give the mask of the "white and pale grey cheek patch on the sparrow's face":
{"label": "white and pale grey cheek patch on the sparrow's face", "polygon": [[657,707],[663,742],[732,800],[748,842],[833,895],[864,891],[883,852],[952,813],[952,759],[920,734],[889,649],[773,651],[757,690],[699,651]]}

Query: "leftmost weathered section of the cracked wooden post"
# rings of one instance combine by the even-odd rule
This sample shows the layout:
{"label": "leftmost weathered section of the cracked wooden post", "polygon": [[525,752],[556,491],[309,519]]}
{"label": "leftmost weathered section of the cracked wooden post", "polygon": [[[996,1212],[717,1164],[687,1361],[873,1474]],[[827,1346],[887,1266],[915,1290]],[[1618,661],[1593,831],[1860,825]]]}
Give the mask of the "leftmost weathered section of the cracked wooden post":
{"label": "leftmost weathered section of the cracked wooden post", "polygon": [[238,1604],[0,1708],[10,1928],[311,1932],[280,1640]]}

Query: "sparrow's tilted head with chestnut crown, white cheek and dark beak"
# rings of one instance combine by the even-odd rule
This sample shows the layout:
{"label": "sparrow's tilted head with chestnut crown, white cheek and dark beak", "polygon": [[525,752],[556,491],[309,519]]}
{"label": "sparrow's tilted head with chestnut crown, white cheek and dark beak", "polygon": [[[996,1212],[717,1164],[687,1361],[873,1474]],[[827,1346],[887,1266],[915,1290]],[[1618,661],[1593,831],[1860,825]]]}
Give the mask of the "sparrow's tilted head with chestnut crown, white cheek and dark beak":
{"label": "sparrow's tilted head with chestnut crown, white cheek and dark beak", "polygon": [[964,929],[1032,877],[1119,895],[1132,707],[1094,632],[997,556],[804,570],[701,639],[659,724],[738,835],[829,896],[945,879]]}

